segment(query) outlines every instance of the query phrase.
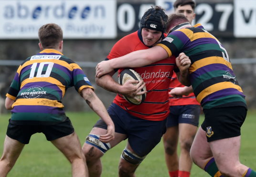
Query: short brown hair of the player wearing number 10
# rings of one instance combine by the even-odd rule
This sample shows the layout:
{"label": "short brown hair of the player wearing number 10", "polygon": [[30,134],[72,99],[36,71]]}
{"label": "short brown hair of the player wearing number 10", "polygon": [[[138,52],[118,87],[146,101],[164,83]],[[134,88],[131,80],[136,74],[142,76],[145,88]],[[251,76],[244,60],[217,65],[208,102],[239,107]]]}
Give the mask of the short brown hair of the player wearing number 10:
{"label": "short brown hair of the player wearing number 10", "polygon": [[38,30],[38,37],[44,49],[52,49],[63,40],[63,31],[59,25],[48,23]]}

